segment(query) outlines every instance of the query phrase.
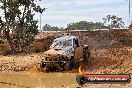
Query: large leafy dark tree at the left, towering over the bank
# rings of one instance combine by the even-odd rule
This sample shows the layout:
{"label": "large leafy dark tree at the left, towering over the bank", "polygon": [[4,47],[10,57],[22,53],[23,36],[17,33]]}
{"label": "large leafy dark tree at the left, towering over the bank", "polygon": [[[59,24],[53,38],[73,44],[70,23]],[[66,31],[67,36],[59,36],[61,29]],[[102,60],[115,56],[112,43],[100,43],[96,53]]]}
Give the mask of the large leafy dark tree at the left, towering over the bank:
{"label": "large leafy dark tree at the left, towering over the bank", "polygon": [[[27,51],[37,33],[36,12],[42,14],[45,8],[36,4],[37,0],[0,0],[4,12],[3,36],[13,52]],[[28,51],[27,51],[28,52]]]}

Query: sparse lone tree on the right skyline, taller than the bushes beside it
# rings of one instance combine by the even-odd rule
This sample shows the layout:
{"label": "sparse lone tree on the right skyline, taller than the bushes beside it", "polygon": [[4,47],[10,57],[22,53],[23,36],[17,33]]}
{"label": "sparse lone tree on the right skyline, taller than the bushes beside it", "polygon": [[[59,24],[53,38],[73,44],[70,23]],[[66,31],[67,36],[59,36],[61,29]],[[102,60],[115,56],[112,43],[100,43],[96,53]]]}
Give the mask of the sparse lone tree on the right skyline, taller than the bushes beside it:
{"label": "sparse lone tree on the right skyline, taller than the bushes beside it", "polygon": [[108,28],[120,28],[124,27],[124,22],[122,21],[122,18],[119,18],[115,15],[107,15],[105,18],[103,18],[104,24],[108,26]]}

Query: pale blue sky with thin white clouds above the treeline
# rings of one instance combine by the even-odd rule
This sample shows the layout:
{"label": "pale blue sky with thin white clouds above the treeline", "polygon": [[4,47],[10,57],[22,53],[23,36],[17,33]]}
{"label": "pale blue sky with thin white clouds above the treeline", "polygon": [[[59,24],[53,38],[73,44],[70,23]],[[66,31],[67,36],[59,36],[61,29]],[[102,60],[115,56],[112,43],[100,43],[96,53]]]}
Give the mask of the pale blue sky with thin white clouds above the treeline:
{"label": "pale blue sky with thin white clouds above the treeline", "polygon": [[[41,0],[39,5],[47,8],[41,15],[42,27],[45,24],[66,27],[79,21],[103,22],[106,15],[123,18],[126,26],[129,22],[127,0]],[[40,20],[40,14],[35,19]]]}

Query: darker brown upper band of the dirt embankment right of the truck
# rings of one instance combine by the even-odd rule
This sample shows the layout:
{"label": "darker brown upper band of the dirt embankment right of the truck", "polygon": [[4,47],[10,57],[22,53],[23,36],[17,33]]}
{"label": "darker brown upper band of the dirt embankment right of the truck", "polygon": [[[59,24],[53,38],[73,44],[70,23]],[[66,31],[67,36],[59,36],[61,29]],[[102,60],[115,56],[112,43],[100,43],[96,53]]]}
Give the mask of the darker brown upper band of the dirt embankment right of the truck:
{"label": "darker brown upper band of the dirt embankment right of the truck", "polygon": [[132,46],[130,30],[104,30],[92,32],[73,32],[79,36],[80,43],[88,44],[91,49],[121,48]]}

